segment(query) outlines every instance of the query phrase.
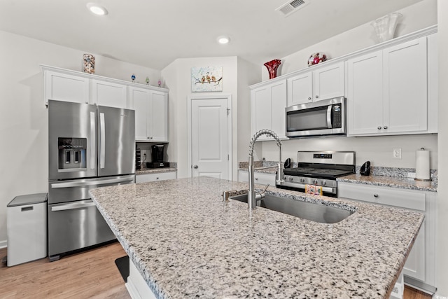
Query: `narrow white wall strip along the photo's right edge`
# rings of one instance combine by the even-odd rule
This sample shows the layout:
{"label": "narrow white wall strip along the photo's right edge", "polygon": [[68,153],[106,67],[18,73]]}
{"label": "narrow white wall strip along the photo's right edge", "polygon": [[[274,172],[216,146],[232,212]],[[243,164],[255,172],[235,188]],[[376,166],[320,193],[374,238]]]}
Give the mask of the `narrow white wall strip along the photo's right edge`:
{"label": "narrow white wall strip along the photo's right edge", "polygon": [[[448,153],[448,1],[438,0],[439,43],[439,153]],[[435,243],[437,293],[448,298],[448,157],[440,155],[437,188],[437,234]]]}

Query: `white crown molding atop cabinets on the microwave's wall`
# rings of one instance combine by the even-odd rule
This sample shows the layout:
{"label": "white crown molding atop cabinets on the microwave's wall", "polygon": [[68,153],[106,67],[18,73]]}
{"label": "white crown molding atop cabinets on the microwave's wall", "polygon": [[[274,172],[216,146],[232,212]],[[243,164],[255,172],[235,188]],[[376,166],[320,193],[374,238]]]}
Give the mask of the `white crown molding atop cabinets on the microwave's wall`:
{"label": "white crown molding atop cabinets on the microwave's wall", "polygon": [[406,41],[412,41],[413,39],[418,39],[419,37],[428,36],[428,35],[434,34],[434,33],[437,33],[437,25],[433,25],[433,26],[430,26],[430,27],[427,27],[427,28],[424,28],[424,29],[420,29],[420,30],[418,30],[416,32],[412,32],[412,33],[409,33],[409,34],[405,34],[403,36],[396,37],[395,39],[391,39],[390,41],[385,41],[384,43],[377,43],[376,45],[373,45],[373,46],[370,46],[370,47],[367,47],[367,48],[363,48],[361,50],[357,50],[355,52],[352,52],[352,53],[349,53],[349,54],[346,54],[346,55],[342,55],[342,56],[339,56],[339,57],[336,57],[336,58],[332,58],[331,60],[327,60],[325,62],[321,62],[319,64],[315,64],[314,66],[307,67],[306,69],[299,69],[297,71],[293,71],[291,73],[284,74],[284,75],[278,76],[278,77],[273,78],[273,79],[262,81],[260,83],[255,83],[255,84],[249,86],[249,88],[250,89],[260,88],[260,87],[262,87],[264,85],[274,83],[275,81],[281,81],[281,80],[284,80],[284,79],[288,79],[288,78],[290,78],[292,76],[297,76],[297,75],[299,75],[302,72],[315,71],[315,70],[317,70],[317,69],[319,69],[321,67],[327,67],[328,65],[333,64],[333,63],[346,61],[346,60],[349,60],[349,58],[357,57],[359,55],[364,55],[364,54],[367,54],[367,53],[370,53],[370,52],[374,52],[374,51],[377,51],[377,50],[384,50],[384,49],[389,48],[391,46],[396,46],[396,45],[398,45],[400,43],[405,43]]}

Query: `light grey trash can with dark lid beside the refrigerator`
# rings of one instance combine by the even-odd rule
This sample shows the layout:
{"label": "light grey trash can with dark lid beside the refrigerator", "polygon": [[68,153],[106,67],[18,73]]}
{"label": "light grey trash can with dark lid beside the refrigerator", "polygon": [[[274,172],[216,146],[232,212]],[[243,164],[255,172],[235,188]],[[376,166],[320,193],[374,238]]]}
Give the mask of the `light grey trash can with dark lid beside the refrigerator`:
{"label": "light grey trash can with dark lid beside the refrigerator", "polygon": [[6,206],[8,267],[47,256],[48,193],[14,197]]}

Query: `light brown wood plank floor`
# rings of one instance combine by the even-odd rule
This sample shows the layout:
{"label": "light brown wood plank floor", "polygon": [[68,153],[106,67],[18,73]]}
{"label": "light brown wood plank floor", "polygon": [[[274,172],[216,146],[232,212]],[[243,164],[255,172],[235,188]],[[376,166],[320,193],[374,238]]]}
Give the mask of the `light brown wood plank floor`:
{"label": "light brown wood plank floor", "polygon": [[[117,242],[65,256],[55,262],[42,258],[6,267],[0,265],[0,298],[123,298],[130,299],[115,265],[125,256]],[[0,249],[0,258],[6,249]],[[403,299],[430,299],[430,295],[405,287]]]}

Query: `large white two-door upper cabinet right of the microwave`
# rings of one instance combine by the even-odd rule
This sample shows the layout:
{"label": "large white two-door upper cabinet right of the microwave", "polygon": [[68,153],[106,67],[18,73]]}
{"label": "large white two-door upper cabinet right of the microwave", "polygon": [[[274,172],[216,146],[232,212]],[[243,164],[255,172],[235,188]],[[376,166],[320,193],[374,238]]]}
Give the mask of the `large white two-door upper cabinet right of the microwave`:
{"label": "large white two-door upper cabinet right of the microwave", "polygon": [[428,132],[426,37],[348,60],[348,134]]}

